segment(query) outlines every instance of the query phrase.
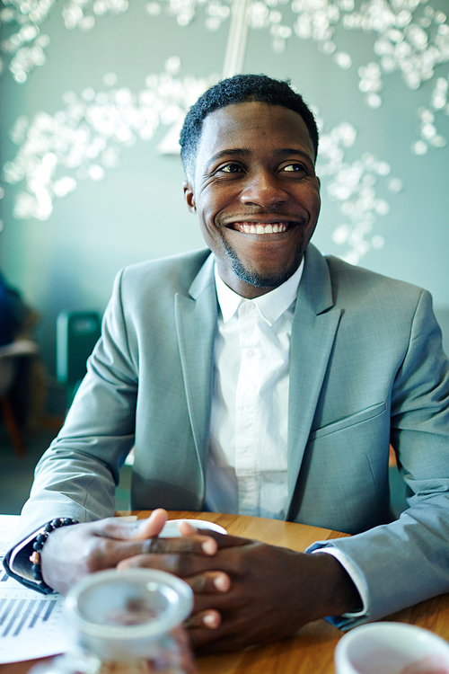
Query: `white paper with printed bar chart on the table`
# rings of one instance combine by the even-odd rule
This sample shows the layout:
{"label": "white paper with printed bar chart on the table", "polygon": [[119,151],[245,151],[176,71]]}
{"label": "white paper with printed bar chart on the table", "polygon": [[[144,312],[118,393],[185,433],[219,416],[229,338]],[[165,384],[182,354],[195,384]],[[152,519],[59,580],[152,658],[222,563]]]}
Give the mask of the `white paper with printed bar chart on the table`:
{"label": "white paper with printed bar chart on the table", "polygon": [[[0,515],[0,559],[9,548],[18,515]],[[0,566],[0,664],[44,658],[72,645],[64,598],[28,590]]]}

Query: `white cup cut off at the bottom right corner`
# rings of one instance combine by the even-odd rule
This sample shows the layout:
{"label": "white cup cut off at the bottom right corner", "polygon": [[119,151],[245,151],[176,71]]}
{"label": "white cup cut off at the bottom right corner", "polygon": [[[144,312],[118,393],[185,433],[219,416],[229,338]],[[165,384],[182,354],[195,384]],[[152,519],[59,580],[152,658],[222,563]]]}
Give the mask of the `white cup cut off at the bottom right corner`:
{"label": "white cup cut off at the bottom right corner", "polygon": [[339,640],[336,674],[449,674],[449,643],[403,623],[360,625]]}

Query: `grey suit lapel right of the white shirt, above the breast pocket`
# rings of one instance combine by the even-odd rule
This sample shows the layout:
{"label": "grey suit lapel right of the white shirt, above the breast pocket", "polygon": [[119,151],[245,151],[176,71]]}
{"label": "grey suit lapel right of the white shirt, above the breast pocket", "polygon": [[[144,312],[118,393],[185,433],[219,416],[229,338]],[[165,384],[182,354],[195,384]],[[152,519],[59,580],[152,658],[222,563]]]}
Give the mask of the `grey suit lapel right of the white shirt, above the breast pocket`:
{"label": "grey suit lapel right of the white shirt, above the breast pocket", "polygon": [[288,496],[292,500],[339,325],[326,261],[309,244],[292,326],[288,401]]}

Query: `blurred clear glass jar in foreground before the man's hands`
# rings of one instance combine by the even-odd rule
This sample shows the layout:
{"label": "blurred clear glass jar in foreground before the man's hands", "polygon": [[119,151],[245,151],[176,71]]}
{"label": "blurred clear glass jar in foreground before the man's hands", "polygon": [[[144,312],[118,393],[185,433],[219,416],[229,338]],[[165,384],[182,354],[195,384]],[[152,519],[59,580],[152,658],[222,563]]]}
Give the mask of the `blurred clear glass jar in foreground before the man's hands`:
{"label": "blurred clear glass jar in foreground before the man's hands", "polygon": [[180,625],[192,607],[189,585],[170,573],[93,573],[66,597],[73,651],[32,674],[190,674],[193,659]]}

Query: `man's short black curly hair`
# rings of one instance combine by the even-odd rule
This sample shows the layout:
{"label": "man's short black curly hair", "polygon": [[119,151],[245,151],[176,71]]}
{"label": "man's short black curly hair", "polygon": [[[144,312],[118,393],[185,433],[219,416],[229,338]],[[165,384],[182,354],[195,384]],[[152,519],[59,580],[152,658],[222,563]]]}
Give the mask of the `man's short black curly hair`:
{"label": "man's short black curly hair", "polygon": [[281,105],[300,115],[309,131],[315,157],[318,151],[318,128],[313,112],[301,94],[290,86],[290,80],[274,80],[267,75],[233,75],[214,84],[198,98],[187,113],[180,131],[180,156],[184,169],[193,168],[198,153],[203,121],[211,112],[227,105],[247,101]]}

